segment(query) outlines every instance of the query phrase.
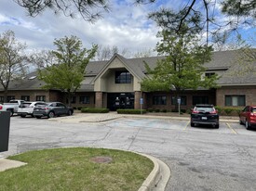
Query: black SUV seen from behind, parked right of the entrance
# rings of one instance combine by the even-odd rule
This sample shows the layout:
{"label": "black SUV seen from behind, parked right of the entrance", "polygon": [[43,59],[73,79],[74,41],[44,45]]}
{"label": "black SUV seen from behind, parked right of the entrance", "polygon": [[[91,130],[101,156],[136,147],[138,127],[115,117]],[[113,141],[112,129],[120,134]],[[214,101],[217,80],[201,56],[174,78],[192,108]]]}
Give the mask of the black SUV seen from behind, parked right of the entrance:
{"label": "black SUV seen from behind, parked right of the entrance", "polygon": [[209,124],[219,128],[218,110],[213,105],[195,105],[195,108],[191,110],[190,124],[192,127],[196,124]]}

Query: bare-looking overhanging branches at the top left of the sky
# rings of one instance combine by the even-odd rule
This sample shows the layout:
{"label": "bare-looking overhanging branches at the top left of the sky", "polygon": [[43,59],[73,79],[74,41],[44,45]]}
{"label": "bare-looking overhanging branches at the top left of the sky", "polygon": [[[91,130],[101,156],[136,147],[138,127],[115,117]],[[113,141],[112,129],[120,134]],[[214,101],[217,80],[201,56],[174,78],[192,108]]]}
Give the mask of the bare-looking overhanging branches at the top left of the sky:
{"label": "bare-looking overhanging branches at the top left of the sky", "polygon": [[31,17],[36,17],[50,8],[54,13],[62,12],[65,16],[74,18],[78,13],[88,21],[101,18],[101,10],[109,11],[105,0],[14,0],[19,6],[24,7]]}

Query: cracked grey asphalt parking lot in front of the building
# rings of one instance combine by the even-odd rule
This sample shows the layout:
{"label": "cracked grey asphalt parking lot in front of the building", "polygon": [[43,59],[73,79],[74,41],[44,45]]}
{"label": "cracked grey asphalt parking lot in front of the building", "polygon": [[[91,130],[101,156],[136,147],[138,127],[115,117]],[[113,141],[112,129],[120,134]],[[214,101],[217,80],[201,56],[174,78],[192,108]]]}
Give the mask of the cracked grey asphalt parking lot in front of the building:
{"label": "cracked grey asphalt parking lot in front of the building", "polygon": [[63,146],[118,148],[166,162],[171,170],[168,191],[256,190],[256,130],[248,131],[238,121],[221,121],[219,129],[191,127],[189,120],[177,119],[67,121],[77,116],[54,121],[12,117],[9,151],[0,158]]}

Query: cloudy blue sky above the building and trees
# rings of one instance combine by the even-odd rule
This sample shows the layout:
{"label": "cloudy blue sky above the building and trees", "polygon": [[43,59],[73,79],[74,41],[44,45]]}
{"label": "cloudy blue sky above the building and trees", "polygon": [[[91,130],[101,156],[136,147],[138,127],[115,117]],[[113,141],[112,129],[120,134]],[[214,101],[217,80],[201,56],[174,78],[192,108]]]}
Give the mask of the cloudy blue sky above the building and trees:
{"label": "cloudy blue sky above the building and trees", "polygon": [[103,13],[103,18],[95,23],[89,23],[79,15],[71,19],[62,14],[55,15],[50,9],[31,18],[13,0],[1,0],[0,33],[15,32],[16,38],[31,51],[55,49],[55,39],[75,35],[87,48],[92,44],[117,46],[119,50],[137,53],[154,49],[159,41],[156,38],[159,28],[153,20],[147,19],[148,13],[160,6],[175,9],[182,1],[158,0],[155,4],[136,6],[134,0],[112,0],[111,11]]}

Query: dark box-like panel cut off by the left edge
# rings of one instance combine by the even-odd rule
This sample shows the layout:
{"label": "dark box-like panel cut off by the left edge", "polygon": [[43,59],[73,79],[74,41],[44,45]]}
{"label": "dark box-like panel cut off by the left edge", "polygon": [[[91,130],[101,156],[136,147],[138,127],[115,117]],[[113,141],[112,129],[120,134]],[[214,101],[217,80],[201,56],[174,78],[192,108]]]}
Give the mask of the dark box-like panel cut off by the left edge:
{"label": "dark box-like panel cut off by the left edge", "polygon": [[10,112],[0,111],[0,152],[8,150]]}

